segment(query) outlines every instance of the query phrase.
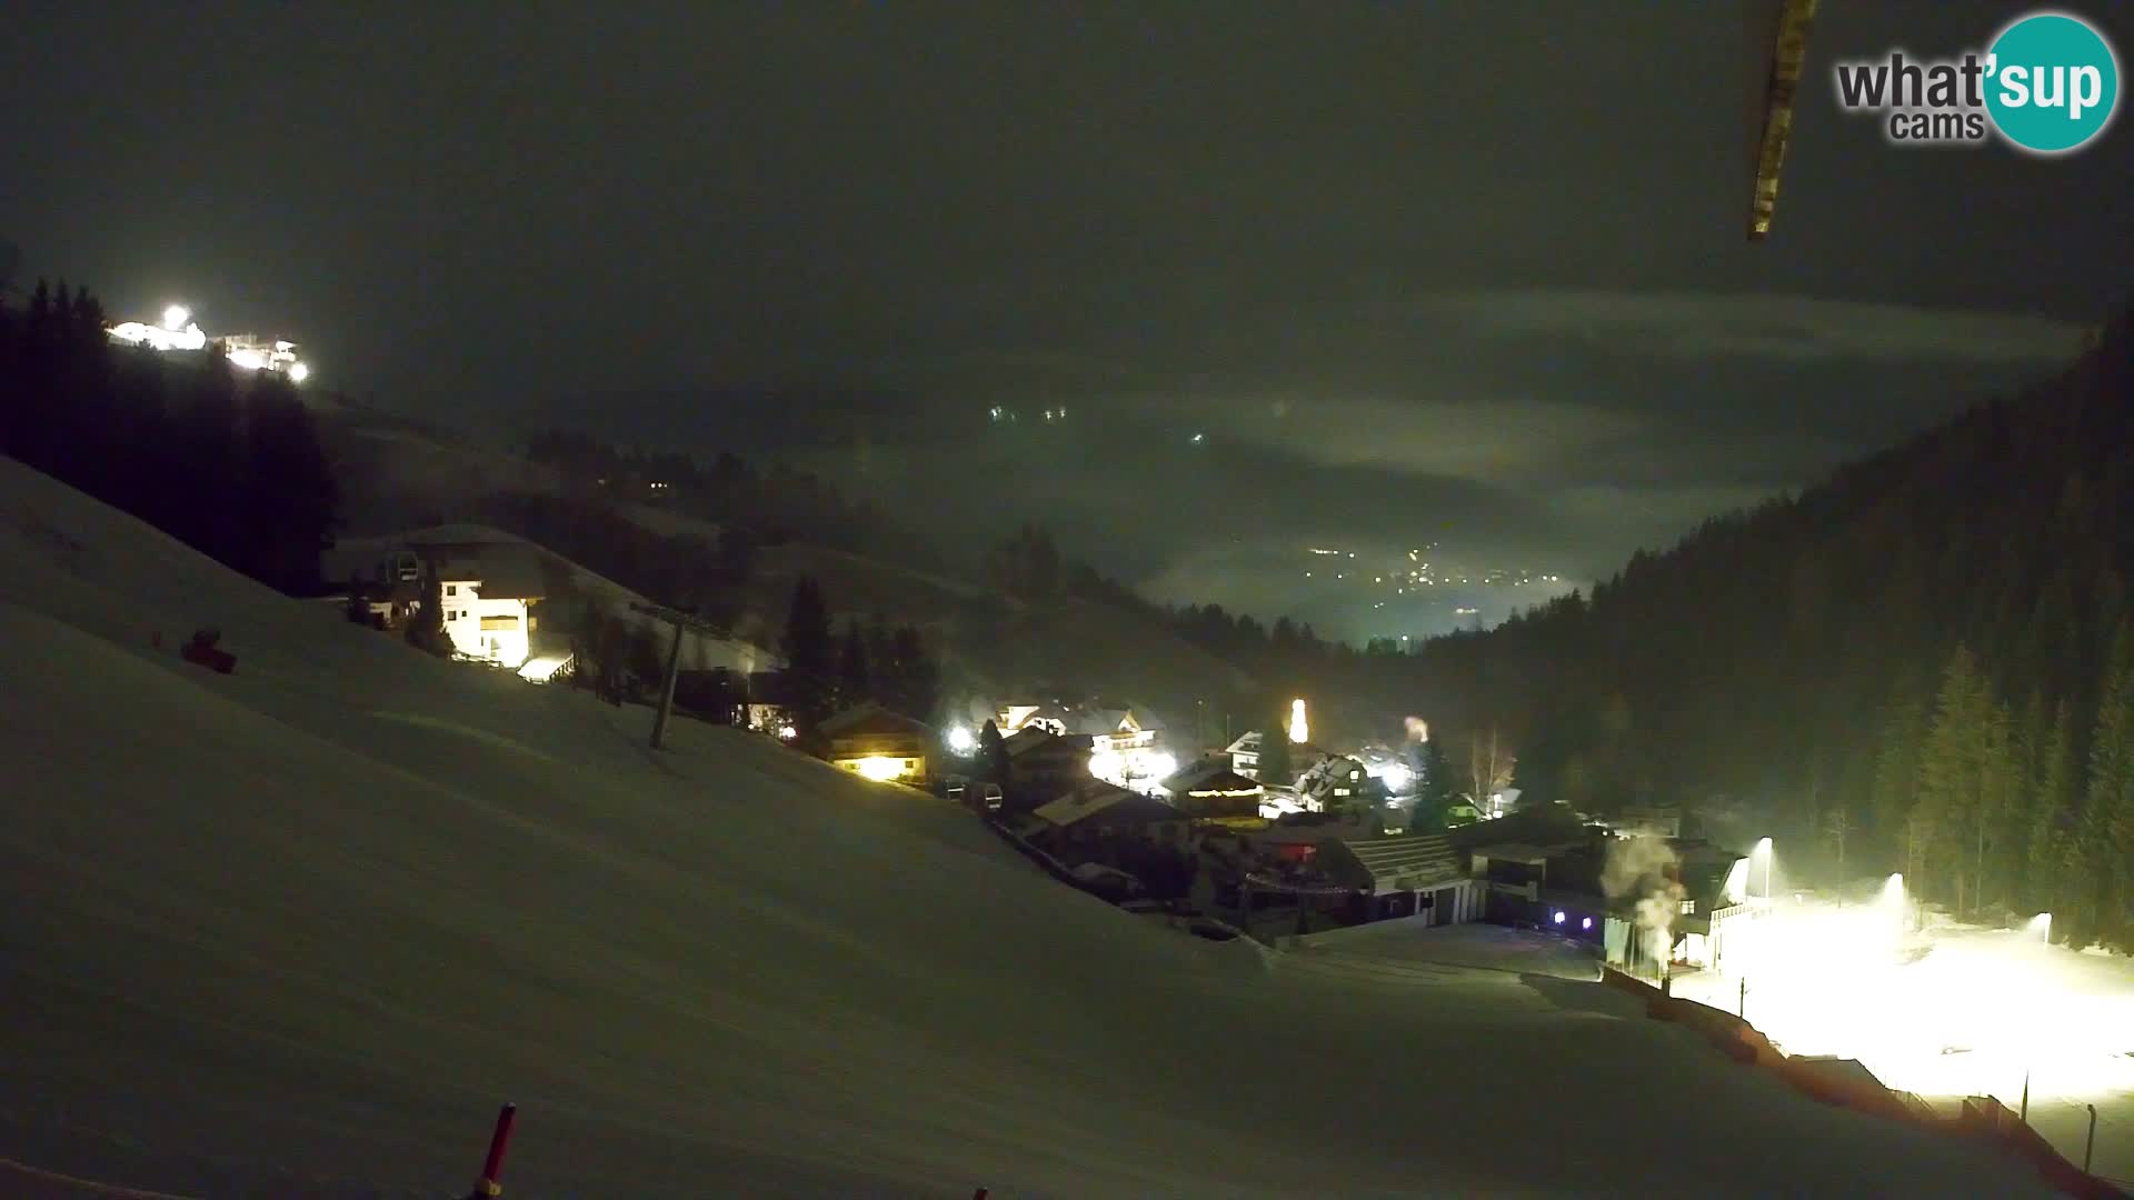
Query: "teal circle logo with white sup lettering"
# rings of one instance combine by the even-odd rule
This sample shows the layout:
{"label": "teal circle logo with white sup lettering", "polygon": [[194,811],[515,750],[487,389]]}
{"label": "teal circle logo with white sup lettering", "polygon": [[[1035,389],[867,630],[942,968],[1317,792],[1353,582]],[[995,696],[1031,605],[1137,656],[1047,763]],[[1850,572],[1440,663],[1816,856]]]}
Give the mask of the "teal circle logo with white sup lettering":
{"label": "teal circle logo with white sup lettering", "polygon": [[2032,13],[1987,49],[1987,113],[2019,149],[2076,149],[2104,132],[2117,109],[2119,58],[2081,17]]}

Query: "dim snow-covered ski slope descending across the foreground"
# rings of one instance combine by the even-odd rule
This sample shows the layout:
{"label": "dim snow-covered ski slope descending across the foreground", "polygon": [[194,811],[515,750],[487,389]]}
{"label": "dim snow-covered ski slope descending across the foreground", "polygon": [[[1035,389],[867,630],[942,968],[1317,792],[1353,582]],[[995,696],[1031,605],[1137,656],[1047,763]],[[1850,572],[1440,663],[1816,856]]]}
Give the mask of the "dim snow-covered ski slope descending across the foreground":
{"label": "dim snow-covered ski slope descending across the foreground", "polygon": [[[237,675],[177,660],[220,626]],[[152,638],[162,638],[156,649]],[[194,1196],[2019,1196],[1594,984],[1295,969],[0,459],[0,1155]]]}

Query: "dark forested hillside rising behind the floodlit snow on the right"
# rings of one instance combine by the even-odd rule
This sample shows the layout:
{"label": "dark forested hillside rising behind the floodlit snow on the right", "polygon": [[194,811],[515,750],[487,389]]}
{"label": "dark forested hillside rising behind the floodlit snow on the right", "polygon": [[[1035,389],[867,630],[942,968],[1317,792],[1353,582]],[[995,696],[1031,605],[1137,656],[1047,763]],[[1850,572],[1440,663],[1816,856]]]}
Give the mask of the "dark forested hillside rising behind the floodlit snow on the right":
{"label": "dark forested hillside rising behind the floodlit snow on the right", "polygon": [[2059,378],[1438,638],[1421,688],[1590,809],[1735,796],[1797,854],[2134,940],[2134,329]]}

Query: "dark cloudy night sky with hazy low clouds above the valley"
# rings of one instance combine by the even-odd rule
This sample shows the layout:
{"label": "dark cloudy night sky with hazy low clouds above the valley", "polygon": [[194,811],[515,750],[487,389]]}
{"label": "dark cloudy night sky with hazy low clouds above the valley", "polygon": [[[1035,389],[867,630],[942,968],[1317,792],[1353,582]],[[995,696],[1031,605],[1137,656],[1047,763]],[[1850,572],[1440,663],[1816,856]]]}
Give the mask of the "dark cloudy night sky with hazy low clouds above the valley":
{"label": "dark cloudy night sky with hazy low clouds above the valley", "polygon": [[[0,237],[497,446],[805,459],[1347,636],[1428,617],[1306,547],[1605,574],[2134,286],[2123,113],[2038,160],[1831,98],[2012,4],[1825,0],[1765,246],[1767,0],[598,9],[13,4]],[[2064,9],[2134,58],[2125,6]]]}

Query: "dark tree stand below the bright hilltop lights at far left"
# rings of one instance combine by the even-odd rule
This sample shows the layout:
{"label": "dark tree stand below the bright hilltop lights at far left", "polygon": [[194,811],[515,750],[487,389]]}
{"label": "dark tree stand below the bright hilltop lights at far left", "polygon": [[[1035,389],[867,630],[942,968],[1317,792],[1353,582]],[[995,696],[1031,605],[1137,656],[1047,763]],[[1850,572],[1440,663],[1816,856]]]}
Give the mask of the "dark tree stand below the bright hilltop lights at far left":
{"label": "dark tree stand below the bright hilltop lights at far left", "polygon": [[318,587],[339,489],[318,427],[277,372],[222,346],[115,346],[87,288],[0,297],[0,453],[290,594]]}

